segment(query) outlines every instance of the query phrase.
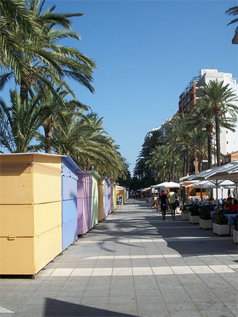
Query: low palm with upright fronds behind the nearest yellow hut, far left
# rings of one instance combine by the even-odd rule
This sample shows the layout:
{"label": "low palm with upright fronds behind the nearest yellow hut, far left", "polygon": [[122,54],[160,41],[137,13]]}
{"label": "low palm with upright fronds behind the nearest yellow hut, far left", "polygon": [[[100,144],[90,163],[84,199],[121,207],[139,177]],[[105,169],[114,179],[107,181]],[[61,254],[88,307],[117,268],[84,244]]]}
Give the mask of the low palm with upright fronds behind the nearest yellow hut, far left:
{"label": "low palm with upright fronds behind the nearest yellow hut, far left", "polygon": [[37,106],[39,96],[21,102],[17,89],[10,89],[10,102],[8,107],[0,98],[0,144],[11,153],[25,153],[30,150],[50,109]]}

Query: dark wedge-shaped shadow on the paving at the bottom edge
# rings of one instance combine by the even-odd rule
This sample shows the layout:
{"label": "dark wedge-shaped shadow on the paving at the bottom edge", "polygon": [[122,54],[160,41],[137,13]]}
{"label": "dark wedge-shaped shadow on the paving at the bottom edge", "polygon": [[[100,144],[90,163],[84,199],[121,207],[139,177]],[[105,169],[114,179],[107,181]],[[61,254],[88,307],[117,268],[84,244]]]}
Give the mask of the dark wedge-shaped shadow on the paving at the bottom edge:
{"label": "dark wedge-shaped shadow on the paving at the bottom edge", "polygon": [[44,317],[136,317],[135,315],[117,313],[105,309],[83,306],[79,304],[73,304],[66,301],[58,301],[56,299],[46,298],[45,299],[45,311]]}

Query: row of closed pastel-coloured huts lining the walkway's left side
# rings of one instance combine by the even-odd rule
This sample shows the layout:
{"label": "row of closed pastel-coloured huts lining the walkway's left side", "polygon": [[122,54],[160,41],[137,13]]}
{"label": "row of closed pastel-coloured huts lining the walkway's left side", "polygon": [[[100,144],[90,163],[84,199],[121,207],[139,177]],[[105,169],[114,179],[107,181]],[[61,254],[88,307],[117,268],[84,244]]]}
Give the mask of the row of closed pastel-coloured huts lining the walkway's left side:
{"label": "row of closed pastel-coloured huts lining the walkway's left side", "polygon": [[34,276],[116,209],[126,188],[69,156],[0,154],[0,274]]}

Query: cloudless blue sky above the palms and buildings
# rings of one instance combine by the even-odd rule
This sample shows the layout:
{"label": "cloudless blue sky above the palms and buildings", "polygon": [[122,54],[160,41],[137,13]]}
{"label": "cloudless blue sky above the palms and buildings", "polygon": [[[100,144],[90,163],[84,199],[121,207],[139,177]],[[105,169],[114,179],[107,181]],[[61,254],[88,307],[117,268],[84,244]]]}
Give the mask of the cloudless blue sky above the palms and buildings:
{"label": "cloudless blue sky above the palms and buildings", "polygon": [[[237,1],[47,0],[56,12],[81,12],[63,42],[93,58],[96,93],[72,82],[81,102],[104,117],[104,128],[135,163],[147,131],[178,109],[178,97],[201,68],[237,77],[235,24],[225,11]],[[5,89],[4,89],[5,90]],[[131,165],[131,171],[135,165]]]}

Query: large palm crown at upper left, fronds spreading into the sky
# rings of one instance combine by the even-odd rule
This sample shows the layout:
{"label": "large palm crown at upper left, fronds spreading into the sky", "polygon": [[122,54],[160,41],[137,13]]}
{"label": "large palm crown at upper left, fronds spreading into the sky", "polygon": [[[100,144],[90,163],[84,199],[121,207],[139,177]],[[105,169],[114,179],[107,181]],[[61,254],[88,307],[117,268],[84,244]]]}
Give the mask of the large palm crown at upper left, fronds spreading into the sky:
{"label": "large palm crown at upper left, fronds spreading into the sky", "polygon": [[[4,71],[0,77],[0,88],[2,89],[11,78],[15,78],[21,87],[22,101],[28,98],[28,92],[33,95],[33,84],[42,89],[47,86],[56,95],[56,87],[67,89],[73,94],[64,81],[68,77],[94,92],[91,82],[96,63],[75,48],[57,45],[57,41],[62,38],[80,39],[80,36],[70,29],[69,18],[82,14],[57,14],[53,12],[55,6],[43,13],[43,4],[44,1],[40,3],[40,0],[30,0],[29,5],[25,3],[25,9],[34,17],[44,37],[38,37],[35,33],[30,34],[27,29],[15,27],[14,23],[8,23],[4,27],[1,25],[5,33],[11,34],[13,42],[15,39],[18,40],[12,46],[13,58],[8,58],[11,56],[8,47],[4,49],[6,52],[0,60],[1,70]],[[4,14],[6,16],[2,16],[1,23],[10,19],[7,10]]]}

